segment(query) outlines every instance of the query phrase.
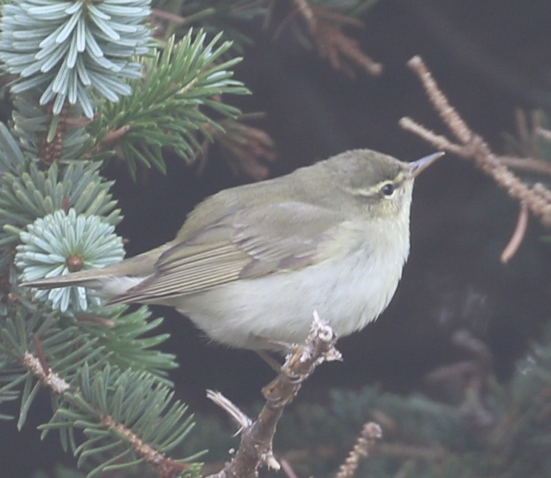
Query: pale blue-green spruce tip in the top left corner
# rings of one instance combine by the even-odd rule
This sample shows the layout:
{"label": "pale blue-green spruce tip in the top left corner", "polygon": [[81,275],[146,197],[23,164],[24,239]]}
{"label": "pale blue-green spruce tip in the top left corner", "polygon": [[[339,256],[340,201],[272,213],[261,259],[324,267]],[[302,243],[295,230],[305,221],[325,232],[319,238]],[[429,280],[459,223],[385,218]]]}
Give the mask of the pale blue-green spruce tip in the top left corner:
{"label": "pale blue-green spruce tip in the top left corner", "polygon": [[0,61],[20,76],[14,94],[41,92],[40,105],[53,102],[60,114],[65,101],[79,103],[94,116],[90,90],[110,101],[130,94],[127,79],[141,76],[149,29],[143,25],[149,0],[28,0],[8,3],[0,22]]}

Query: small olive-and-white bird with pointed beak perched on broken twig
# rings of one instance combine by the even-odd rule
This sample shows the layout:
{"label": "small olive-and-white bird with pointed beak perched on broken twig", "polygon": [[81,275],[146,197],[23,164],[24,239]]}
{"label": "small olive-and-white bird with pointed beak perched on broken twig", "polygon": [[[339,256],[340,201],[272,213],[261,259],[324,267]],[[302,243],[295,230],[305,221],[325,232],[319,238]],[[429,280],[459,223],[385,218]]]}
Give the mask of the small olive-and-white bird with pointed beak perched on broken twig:
{"label": "small olive-and-white bird with pointed beak perched on broken twig", "polygon": [[442,154],[404,163],[355,149],[225,189],[165,245],[21,285],[173,306],[211,340],[245,349],[304,340],[314,310],[349,335],[391,301],[410,248],[414,179]]}

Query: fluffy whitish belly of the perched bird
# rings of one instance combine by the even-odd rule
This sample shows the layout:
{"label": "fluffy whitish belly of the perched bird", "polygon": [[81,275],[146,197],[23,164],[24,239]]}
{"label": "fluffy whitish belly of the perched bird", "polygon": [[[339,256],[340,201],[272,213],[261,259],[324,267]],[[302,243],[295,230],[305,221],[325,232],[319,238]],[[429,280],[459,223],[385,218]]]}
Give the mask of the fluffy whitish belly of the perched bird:
{"label": "fluffy whitish belly of the perched bird", "polygon": [[386,308],[402,276],[404,258],[366,260],[365,254],[231,282],[173,305],[211,339],[241,348],[267,348],[258,337],[302,342],[314,310],[338,335],[349,335]]}

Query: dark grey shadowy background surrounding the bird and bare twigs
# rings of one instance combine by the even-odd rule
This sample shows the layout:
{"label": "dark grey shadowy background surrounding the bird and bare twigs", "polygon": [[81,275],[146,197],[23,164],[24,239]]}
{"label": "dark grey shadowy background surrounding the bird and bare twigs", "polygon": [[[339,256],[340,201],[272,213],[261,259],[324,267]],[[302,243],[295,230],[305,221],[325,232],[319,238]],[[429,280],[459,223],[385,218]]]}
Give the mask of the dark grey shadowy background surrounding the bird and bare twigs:
{"label": "dark grey shadowy background surrounding the bird and bare twigs", "polygon": [[[357,72],[350,79],[291,34],[273,40],[251,29],[257,42],[238,76],[253,96],[242,98],[240,106],[267,113],[261,126],[275,139],[279,155],[272,176],[357,147],[402,160],[433,152],[397,124],[412,116],[446,132],[406,66],[415,54],[496,152],[504,151],[503,132],[514,132],[515,108],[551,105],[548,0],[380,0],[364,21],[364,29],[347,31],[384,65],[376,78]],[[149,172],[138,184],[114,165],[108,174],[119,179],[114,192],[125,214],[119,232],[130,240],[129,256],[171,239],[205,196],[250,180],[231,174],[216,152],[201,176],[176,159],[167,176]],[[423,388],[428,371],[464,358],[450,342],[458,329],[490,346],[497,377],[506,380],[527,341],[548,321],[551,304],[551,249],[541,242],[548,231],[537,220],[530,221],[510,263],[499,262],[518,211],[505,191],[460,158],[448,155],[423,174],[415,185],[410,260],[391,306],[377,322],[339,342],[344,363],[319,368],[298,400],[322,400],[329,388],[375,382],[397,393]],[[207,402],[206,388],[237,404],[260,399],[273,373],[256,355],[207,344],[175,311],[155,312],[165,316],[163,327],[171,333],[165,351],[178,355],[180,368],[172,375],[178,397],[192,409],[220,413]],[[23,433],[14,433],[13,422],[0,424],[0,460],[24,466],[17,476],[30,476],[36,461],[59,459],[57,437],[43,446],[34,430],[48,418],[45,405],[32,412]],[[30,457],[31,450],[36,455]]]}

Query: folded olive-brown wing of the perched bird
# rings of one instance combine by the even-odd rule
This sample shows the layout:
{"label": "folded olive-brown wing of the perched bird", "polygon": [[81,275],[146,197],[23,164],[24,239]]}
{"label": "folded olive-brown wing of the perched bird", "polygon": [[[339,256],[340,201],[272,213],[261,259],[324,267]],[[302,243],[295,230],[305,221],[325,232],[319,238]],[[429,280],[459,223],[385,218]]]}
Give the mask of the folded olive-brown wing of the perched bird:
{"label": "folded olive-brown wing of the perched bird", "polygon": [[240,209],[181,237],[152,276],[111,303],[156,302],[304,267],[324,258],[323,239],[338,224],[335,212],[304,202]]}

